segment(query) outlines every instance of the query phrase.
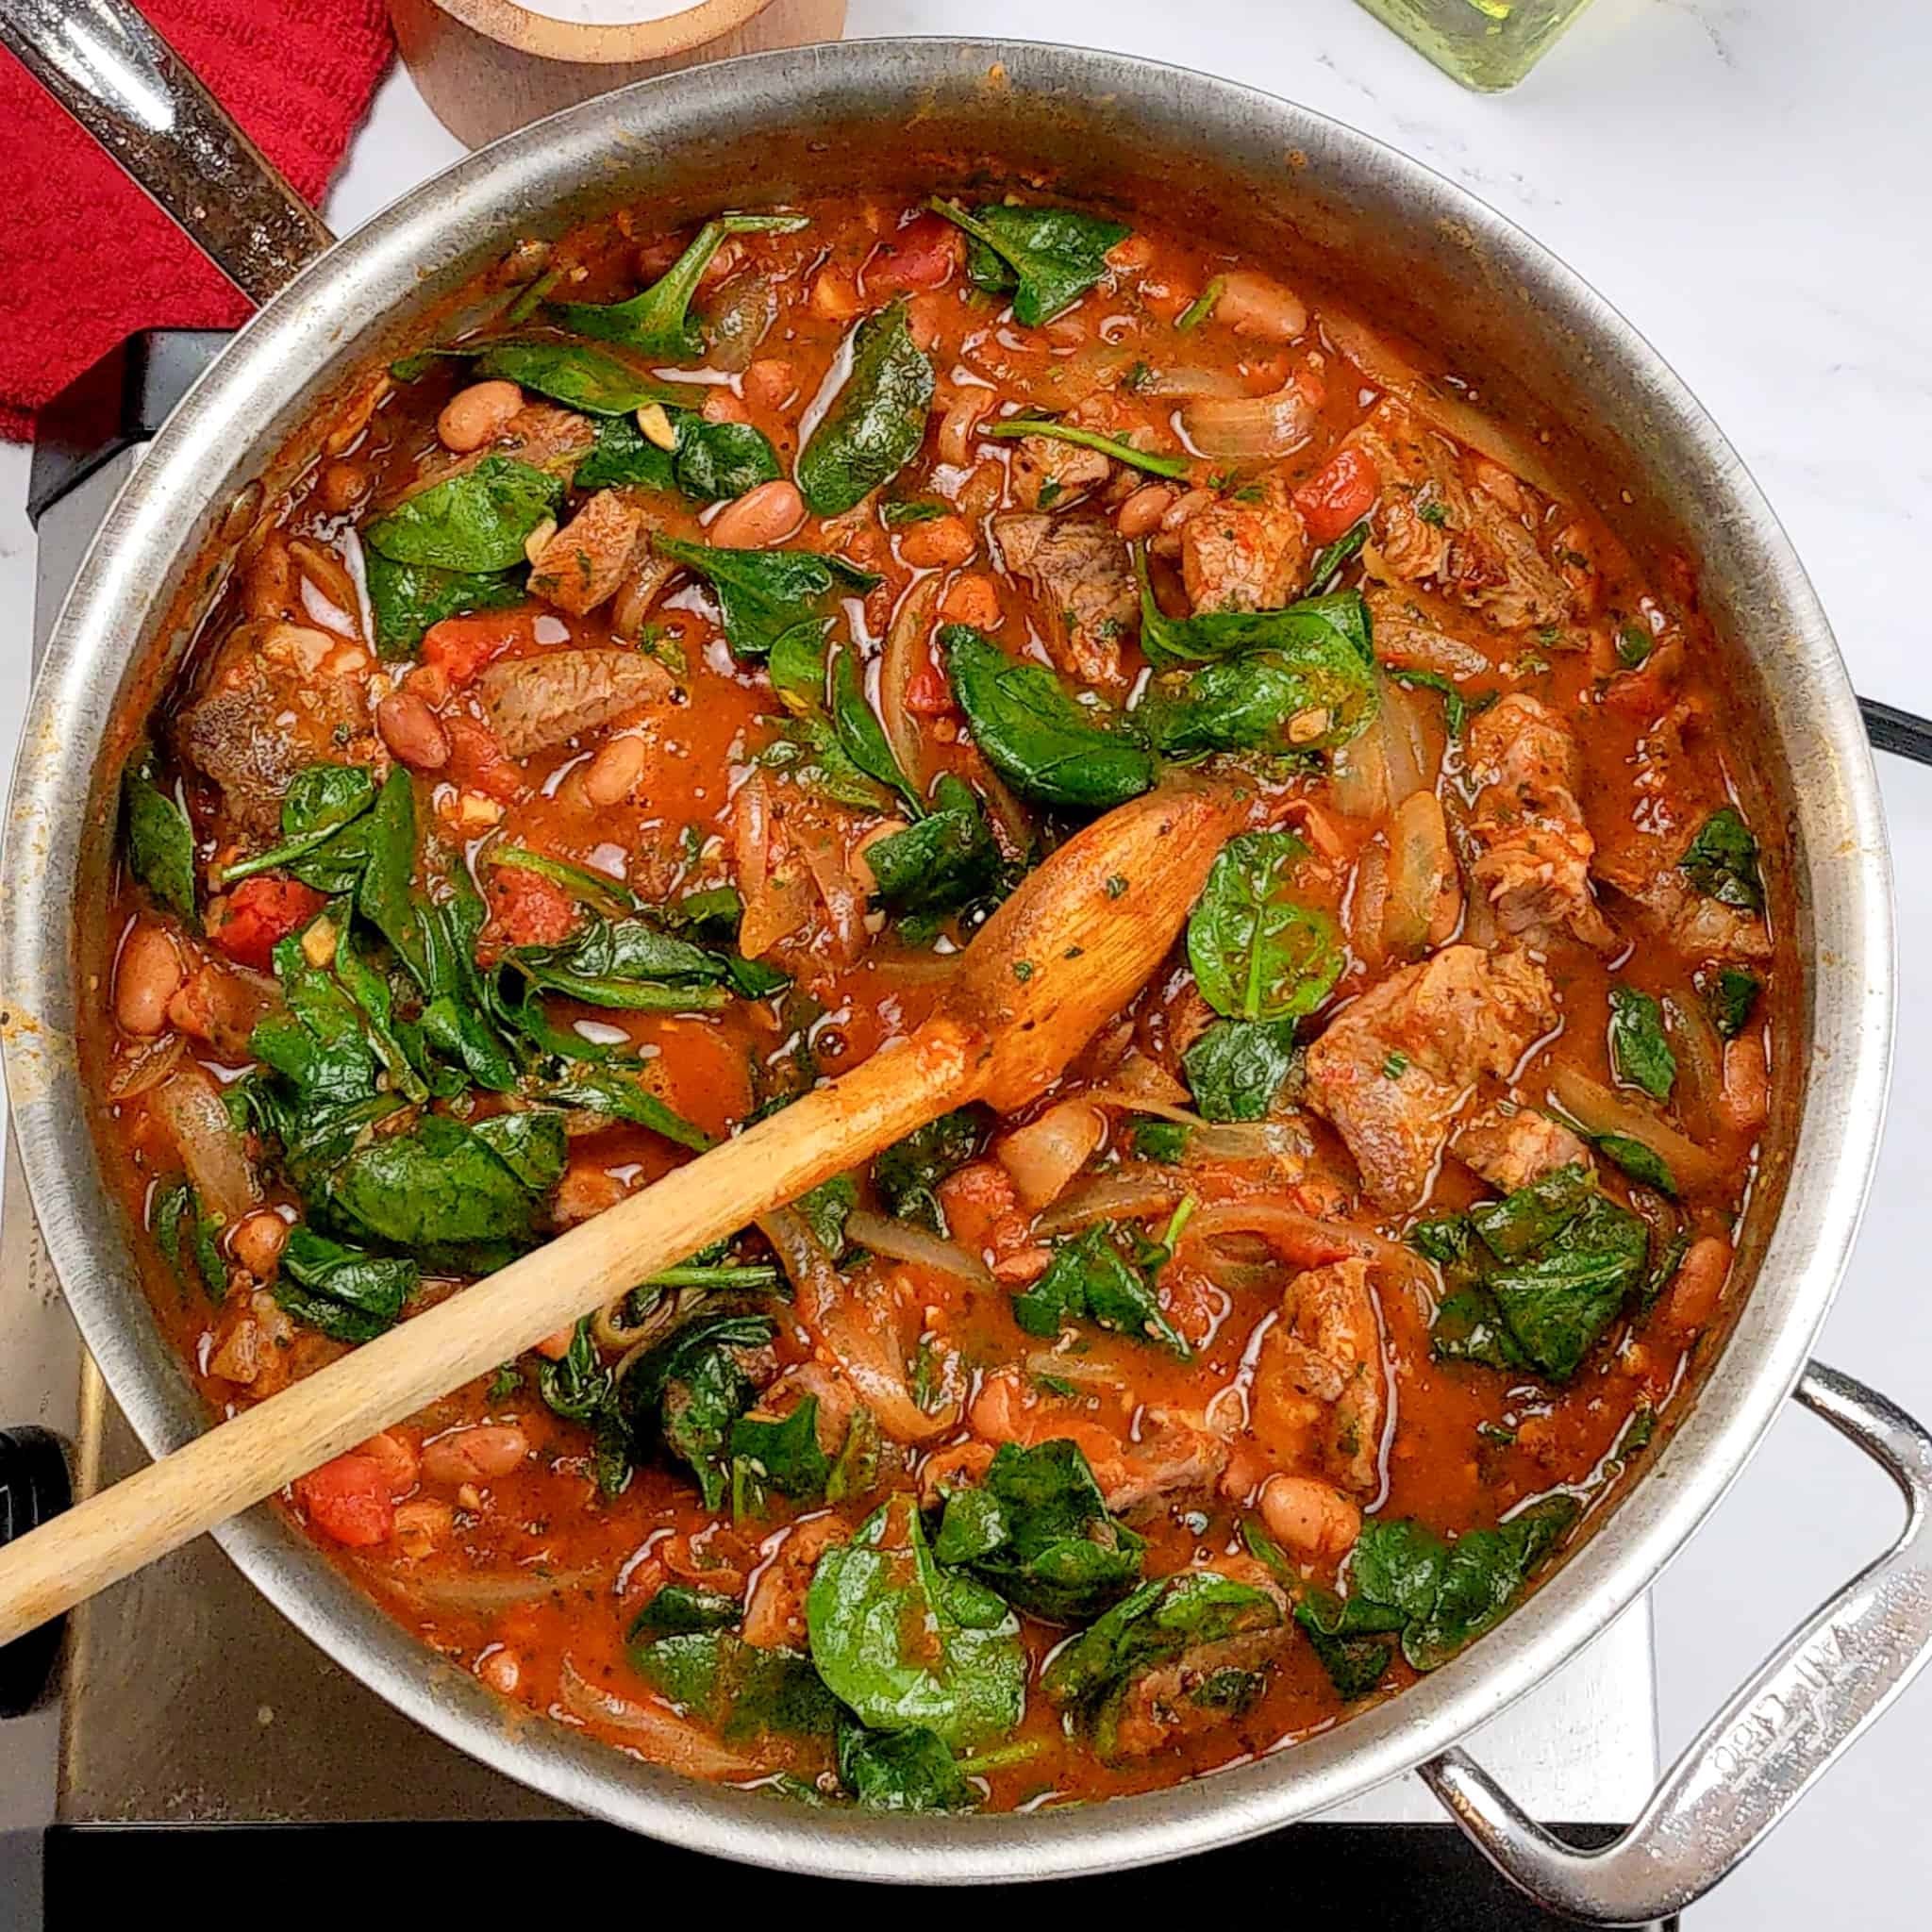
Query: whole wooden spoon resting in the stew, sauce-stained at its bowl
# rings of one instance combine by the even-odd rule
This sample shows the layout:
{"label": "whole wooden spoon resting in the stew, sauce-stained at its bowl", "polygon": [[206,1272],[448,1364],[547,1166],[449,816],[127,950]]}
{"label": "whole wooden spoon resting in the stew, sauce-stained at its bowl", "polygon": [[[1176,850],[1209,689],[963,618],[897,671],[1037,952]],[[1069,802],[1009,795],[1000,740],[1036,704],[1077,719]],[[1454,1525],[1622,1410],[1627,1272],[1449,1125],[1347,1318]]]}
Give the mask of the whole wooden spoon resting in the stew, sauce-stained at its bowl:
{"label": "whole wooden spoon resting in the stew, sauce-stained at its bowl", "polygon": [[1208,784],[1107,813],[987,920],[910,1039],[0,1549],[0,1644],[941,1113],[1032,1099],[1146,983],[1238,815]]}

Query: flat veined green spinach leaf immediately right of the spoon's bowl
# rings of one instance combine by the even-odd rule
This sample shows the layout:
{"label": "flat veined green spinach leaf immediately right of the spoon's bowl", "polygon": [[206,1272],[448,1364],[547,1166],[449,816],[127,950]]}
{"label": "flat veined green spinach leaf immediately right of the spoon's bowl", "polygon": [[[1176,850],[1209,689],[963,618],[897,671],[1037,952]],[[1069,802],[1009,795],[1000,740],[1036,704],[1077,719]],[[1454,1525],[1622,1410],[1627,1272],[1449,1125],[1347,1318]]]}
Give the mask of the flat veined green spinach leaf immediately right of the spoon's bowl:
{"label": "flat veined green spinach leaf immediately right of the spoon's bowl", "polygon": [[1229,1020],[1293,1020],[1314,1012],[1343,968],[1327,914],[1289,896],[1308,846],[1294,833],[1231,838],[1188,916],[1194,983]]}

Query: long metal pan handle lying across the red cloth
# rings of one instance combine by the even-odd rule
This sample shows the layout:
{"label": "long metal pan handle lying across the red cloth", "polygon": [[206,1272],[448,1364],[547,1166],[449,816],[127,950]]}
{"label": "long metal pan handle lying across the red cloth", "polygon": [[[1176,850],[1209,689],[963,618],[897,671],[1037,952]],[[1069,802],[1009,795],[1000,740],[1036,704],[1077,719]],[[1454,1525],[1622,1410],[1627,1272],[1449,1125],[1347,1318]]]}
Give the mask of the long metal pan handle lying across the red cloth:
{"label": "long metal pan handle lying across the red cloth", "polygon": [[251,301],[334,242],[129,0],[0,0],[0,44]]}

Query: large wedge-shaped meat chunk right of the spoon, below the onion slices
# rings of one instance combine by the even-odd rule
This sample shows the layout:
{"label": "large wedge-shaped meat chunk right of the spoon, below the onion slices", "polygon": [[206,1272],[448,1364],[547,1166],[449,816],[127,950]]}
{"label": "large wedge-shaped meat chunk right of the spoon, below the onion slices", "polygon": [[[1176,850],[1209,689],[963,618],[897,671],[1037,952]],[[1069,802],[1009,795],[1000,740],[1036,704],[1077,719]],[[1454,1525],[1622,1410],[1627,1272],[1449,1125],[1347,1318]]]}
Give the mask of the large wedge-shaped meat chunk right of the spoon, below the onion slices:
{"label": "large wedge-shaped meat chunk right of the spoon, below the onion slices", "polygon": [[1329,1022],[1308,1049],[1308,1101],[1349,1144],[1366,1192],[1414,1208],[1470,1088],[1482,1074],[1507,1078],[1555,1018],[1528,954],[1445,947]]}

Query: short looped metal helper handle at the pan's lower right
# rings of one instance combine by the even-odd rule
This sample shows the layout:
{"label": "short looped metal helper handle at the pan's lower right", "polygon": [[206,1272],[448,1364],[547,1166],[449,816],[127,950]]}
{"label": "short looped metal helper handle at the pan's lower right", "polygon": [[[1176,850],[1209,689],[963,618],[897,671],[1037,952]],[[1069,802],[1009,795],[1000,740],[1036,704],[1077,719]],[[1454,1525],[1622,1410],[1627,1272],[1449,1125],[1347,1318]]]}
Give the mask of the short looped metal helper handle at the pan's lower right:
{"label": "short looped metal helper handle at the pan's lower right", "polygon": [[1756,1847],[1932,1656],[1932,1435],[1822,1362],[1804,1370],[1797,1399],[1899,1486],[1905,1528],[1779,1644],[1623,1837],[1577,1851],[1466,1752],[1445,1750],[1422,1766],[1484,1857],[1549,1911],[1596,1926],[1650,1924],[1683,1911]]}

